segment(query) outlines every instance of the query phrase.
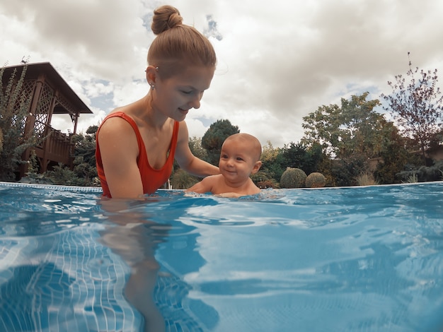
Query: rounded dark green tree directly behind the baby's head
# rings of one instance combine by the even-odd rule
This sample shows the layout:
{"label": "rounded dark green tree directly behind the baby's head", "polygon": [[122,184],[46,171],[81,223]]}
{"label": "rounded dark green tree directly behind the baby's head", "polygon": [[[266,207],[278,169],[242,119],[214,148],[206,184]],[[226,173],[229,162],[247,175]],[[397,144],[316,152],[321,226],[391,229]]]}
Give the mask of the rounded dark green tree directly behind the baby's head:
{"label": "rounded dark green tree directly behind the baby's head", "polygon": [[233,126],[227,119],[217,120],[209,126],[202,137],[202,147],[207,150],[208,161],[212,165],[219,165],[220,150],[222,150],[224,140],[239,132],[238,126]]}

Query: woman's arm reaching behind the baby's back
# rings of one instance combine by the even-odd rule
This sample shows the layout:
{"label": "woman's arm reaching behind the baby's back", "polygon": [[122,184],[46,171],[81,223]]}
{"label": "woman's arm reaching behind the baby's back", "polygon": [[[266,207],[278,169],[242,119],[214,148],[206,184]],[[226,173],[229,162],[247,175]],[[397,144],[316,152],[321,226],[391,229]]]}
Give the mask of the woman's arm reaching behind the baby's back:
{"label": "woman's arm reaching behind the baby's back", "polygon": [[220,173],[219,167],[192,155],[189,148],[188,126],[186,126],[185,121],[180,122],[180,128],[178,129],[176,160],[183,170],[197,177],[207,177]]}

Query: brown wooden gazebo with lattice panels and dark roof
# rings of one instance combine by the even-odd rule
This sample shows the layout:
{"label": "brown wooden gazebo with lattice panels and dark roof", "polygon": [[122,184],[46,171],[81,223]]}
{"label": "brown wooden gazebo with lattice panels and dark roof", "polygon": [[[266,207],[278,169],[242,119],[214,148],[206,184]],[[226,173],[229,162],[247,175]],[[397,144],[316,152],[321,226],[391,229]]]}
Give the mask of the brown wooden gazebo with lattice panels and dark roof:
{"label": "brown wooden gazebo with lattice panels and dark roof", "polygon": [[[38,139],[35,155],[40,164],[40,172],[48,170],[50,165],[62,162],[72,166],[73,146],[71,134],[76,134],[80,114],[92,114],[74,90],[64,81],[49,62],[8,66],[4,71],[4,80],[9,80],[16,69],[16,79],[27,66],[22,93],[30,96],[29,116],[25,124],[25,136],[34,133]],[[6,81],[7,82],[7,81]],[[72,121],[70,134],[52,128],[53,114],[69,114]],[[22,159],[28,160],[31,148],[23,153]],[[20,177],[27,171],[27,165],[21,167]]]}

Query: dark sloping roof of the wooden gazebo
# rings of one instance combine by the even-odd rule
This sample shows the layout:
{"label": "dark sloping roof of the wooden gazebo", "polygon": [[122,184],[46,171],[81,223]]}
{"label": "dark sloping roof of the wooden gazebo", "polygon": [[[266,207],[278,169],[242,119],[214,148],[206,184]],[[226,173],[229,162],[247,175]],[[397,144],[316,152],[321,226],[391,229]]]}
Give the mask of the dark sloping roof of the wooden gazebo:
{"label": "dark sloping roof of the wooden gazebo", "polygon": [[[14,69],[17,69],[17,76],[20,76],[24,66],[28,66],[26,70],[27,79],[38,78],[41,73],[44,73],[52,84],[54,84],[62,95],[64,95],[69,102],[79,111],[80,114],[92,114],[91,109],[80,99],[80,97],[71,89],[66,81],[60,76],[60,74],[54,69],[50,62],[40,62],[34,64],[20,64],[17,66],[4,67],[3,79],[8,79]],[[63,107],[55,107],[54,114],[64,114],[67,111]]]}

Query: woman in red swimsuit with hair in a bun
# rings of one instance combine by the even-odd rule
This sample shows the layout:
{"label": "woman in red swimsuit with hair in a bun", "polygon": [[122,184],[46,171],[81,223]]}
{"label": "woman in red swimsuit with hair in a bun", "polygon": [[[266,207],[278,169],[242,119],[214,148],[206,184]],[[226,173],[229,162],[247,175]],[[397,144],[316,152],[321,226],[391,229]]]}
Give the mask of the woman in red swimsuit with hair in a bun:
{"label": "woman in red swimsuit with hair in a bun", "polygon": [[186,114],[200,107],[216,66],[214,48],[205,36],[183,25],[179,11],[154,11],[146,80],[151,88],[142,99],[118,107],[97,132],[96,160],[103,196],[139,198],[167,182],[173,160],[198,177],[219,168],[192,155]]}

